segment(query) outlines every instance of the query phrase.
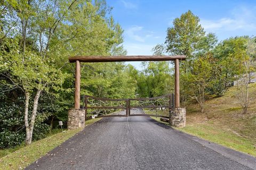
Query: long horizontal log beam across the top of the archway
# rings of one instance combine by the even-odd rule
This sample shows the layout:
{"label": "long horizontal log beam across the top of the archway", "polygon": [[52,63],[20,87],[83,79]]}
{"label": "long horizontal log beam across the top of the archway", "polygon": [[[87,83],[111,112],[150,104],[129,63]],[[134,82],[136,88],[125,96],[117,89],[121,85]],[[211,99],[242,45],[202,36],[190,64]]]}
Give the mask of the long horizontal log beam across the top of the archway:
{"label": "long horizontal log beam across the top of the archway", "polygon": [[174,61],[174,60],[185,60],[185,55],[137,55],[137,56],[75,56],[69,57],[70,63],[76,61],[87,62],[87,63],[98,63],[98,62],[137,62],[137,61]]}

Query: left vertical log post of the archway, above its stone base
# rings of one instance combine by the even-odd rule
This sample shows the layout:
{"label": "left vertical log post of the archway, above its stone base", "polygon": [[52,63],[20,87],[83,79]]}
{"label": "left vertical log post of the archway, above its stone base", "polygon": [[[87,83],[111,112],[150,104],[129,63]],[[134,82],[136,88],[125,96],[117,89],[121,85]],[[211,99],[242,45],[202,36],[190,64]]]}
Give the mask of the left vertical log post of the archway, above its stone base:
{"label": "left vertical log post of the archway, above its stone base", "polygon": [[76,61],[75,109],[80,108],[80,81],[81,81],[81,64],[79,61]]}

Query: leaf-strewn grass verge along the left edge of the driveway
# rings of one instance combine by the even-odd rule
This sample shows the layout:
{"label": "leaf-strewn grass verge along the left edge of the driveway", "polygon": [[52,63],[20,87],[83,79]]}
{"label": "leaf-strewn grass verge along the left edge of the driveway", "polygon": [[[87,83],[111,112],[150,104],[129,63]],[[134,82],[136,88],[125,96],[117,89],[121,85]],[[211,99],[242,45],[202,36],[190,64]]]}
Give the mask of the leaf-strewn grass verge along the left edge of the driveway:
{"label": "leaf-strewn grass verge along the left edge of the driveway", "polygon": [[[101,118],[88,120],[85,124],[90,125],[100,119]],[[0,158],[0,169],[24,169],[81,130],[82,129],[60,132],[42,140],[35,141],[29,146],[18,146],[13,149],[1,150],[2,152],[10,152],[10,154]]]}

